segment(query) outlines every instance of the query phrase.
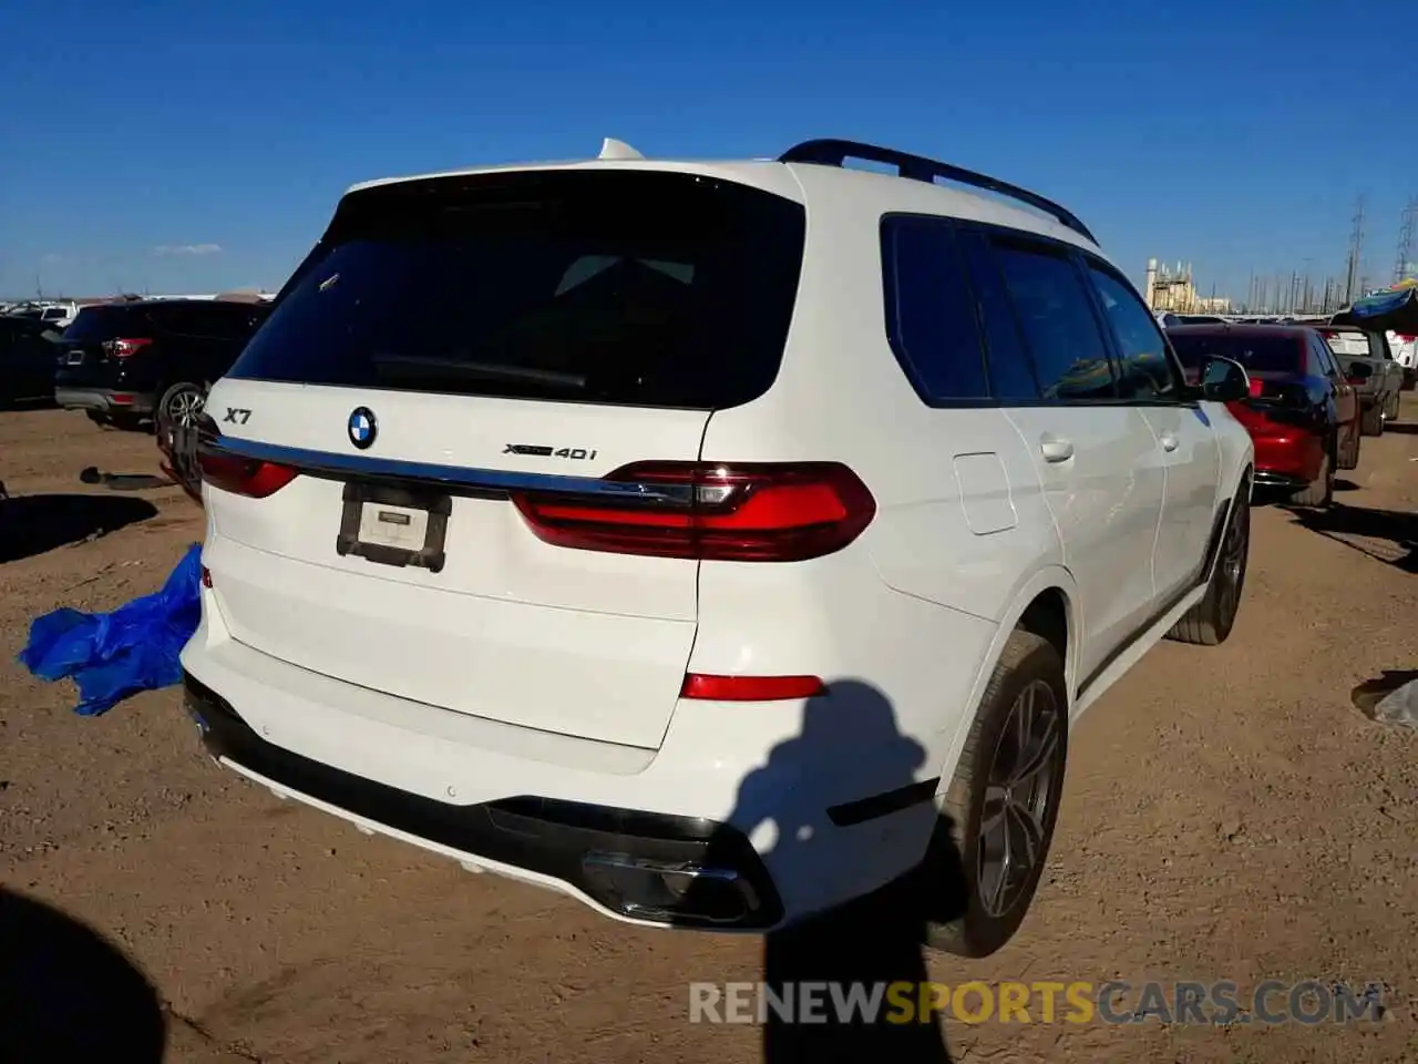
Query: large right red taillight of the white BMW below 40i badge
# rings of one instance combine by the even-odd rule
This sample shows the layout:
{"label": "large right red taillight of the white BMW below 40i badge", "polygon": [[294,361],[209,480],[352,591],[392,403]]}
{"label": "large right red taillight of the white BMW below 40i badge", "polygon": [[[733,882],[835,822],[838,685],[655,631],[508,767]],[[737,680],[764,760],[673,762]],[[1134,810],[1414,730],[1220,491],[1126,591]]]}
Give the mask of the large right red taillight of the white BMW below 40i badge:
{"label": "large right red taillight of the white BMW below 40i badge", "polygon": [[866,485],[835,462],[635,462],[607,480],[642,491],[516,492],[513,501],[532,532],[556,546],[716,562],[821,558],[856,539],[876,514]]}

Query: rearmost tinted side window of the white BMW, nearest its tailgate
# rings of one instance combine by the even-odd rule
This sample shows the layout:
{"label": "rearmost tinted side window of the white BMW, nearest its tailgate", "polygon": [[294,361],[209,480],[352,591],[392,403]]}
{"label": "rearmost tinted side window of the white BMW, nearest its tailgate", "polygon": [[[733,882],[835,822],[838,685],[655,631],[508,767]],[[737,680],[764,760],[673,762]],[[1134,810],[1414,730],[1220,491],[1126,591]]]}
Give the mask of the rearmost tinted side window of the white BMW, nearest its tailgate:
{"label": "rearmost tinted side window of the white BMW, nearest its tailgate", "polygon": [[949,221],[882,224],[892,349],[927,400],[987,399],[974,299]]}

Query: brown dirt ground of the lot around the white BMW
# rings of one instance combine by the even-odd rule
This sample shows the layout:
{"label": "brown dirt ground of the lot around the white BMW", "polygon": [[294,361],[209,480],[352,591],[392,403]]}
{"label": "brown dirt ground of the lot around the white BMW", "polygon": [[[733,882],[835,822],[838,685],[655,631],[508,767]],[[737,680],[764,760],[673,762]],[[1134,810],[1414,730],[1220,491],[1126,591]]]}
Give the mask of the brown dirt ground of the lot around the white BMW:
{"label": "brown dirt ground of the lot around the white BMW", "polygon": [[[1256,508],[1227,645],[1159,647],[1079,724],[1049,871],[1018,938],[986,960],[926,960],[949,985],[1378,982],[1385,1020],[947,1019],[949,1060],[1418,1060],[1418,735],[1350,699],[1363,681],[1418,668],[1412,397],[1407,413],[1364,441],[1322,522]],[[754,1026],[689,1023],[688,985],[759,977],[763,939],[625,928],[279,802],[201,755],[170,689],[105,716],[71,712],[68,684],[37,682],[14,661],[28,621],[155,590],[201,536],[200,511],[176,488],[86,487],[88,465],[155,472],[152,437],[52,410],[0,413],[13,497],[0,514],[23,516],[0,535],[6,996],[50,994],[47,1007],[68,1009],[108,1055],[157,1058],[138,1048],[140,996],[125,996],[140,985],[105,975],[98,939],[50,935],[23,895],[146,975],[169,1061],[824,1058],[791,1033],[766,1046]],[[813,936],[793,948],[838,977],[858,949],[882,948],[832,922]],[[902,965],[920,965],[902,951]],[[881,1048],[883,1060],[947,1058],[939,1040]]]}

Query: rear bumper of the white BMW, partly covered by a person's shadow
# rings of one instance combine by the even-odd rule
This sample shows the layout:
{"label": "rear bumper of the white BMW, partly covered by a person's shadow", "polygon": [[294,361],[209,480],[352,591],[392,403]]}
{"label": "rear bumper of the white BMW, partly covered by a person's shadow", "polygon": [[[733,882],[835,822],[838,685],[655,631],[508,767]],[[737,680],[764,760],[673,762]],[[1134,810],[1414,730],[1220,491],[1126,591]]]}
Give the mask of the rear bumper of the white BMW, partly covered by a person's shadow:
{"label": "rear bumper of the white BMW, partly covered by a person's shadow", "polygon": [[902,736],[859,724],[872,706],[851,694],[811,699],[828,719],[811,741],[803,701],[681,701],[658,750],[618,746],[286,664],[233,640],[203,599],[182,660],[223,765],[617,919],[769,931],[899,878],[934,827],[939,762],[893,760]]}

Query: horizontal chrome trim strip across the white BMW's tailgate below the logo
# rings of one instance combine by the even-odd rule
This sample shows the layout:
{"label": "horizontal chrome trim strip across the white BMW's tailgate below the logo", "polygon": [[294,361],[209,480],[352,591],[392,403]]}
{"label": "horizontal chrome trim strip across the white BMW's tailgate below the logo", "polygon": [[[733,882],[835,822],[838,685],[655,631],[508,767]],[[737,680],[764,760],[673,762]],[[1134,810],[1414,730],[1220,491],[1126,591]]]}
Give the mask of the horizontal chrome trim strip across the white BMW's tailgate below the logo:
{"label": "horizontal chrome trim strip across the white BMW's tailgate below the logo", "polygon": [[598,477],[569,477],[554,472],[516,472],[510,470],[479,470],[465,465],[437,465],[397,458],[374,458],[363,454],[335,454],[311,451],[303,447],[240,440],[218,436],[204,440],[200,450],[234,458],[251,458],[278,465],[294,465],[315,477],[377,477],[381,480],[424,481],[481,491],[554,491],[570,495],[615,495],[641,502],[691,501],[693,488],[688,484],[645,484],[640,481],[607,481]]}

